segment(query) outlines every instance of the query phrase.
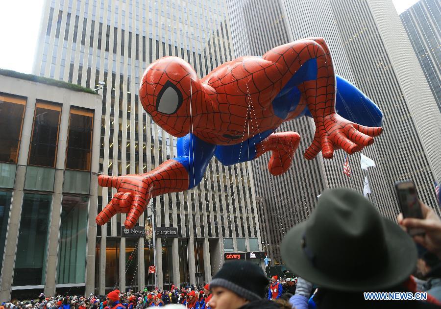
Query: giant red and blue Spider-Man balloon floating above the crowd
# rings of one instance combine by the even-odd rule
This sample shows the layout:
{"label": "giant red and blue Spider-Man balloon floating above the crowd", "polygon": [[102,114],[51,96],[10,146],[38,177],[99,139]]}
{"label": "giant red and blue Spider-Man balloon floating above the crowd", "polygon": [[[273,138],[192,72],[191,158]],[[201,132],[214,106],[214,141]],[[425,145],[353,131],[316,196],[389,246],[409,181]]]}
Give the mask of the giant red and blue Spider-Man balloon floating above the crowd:
{"label": "giant red and blue Spider-Man balloon floating above the crowd", "polygon": [[353,154],[382,132],[381,111],[336,76],[322,38],[278,46],[262,57],[237,58],[202,79],[184,60],[164,57],[145,71],[139,97],[156,124],[178,138],[177,157],[145,174],[100,175],[100,186],[118,192],[98,214],[98,225],[126,213],[124,225],[133,227],[150,198],[197,186],[213,156],[232,165],[271,151],[270,173],[284,173],[300,136],[274,133],[283,121],[314,119],[307,160],[320,151],[330,159],[340,148]]}

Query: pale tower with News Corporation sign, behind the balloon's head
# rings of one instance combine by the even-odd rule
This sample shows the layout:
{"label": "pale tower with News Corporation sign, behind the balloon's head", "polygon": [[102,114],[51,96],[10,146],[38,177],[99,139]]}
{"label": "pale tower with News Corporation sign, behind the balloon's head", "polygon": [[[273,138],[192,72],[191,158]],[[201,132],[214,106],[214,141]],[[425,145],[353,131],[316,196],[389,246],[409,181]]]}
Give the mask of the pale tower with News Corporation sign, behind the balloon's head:
{"label": "pale tower with News Corporation sign, behind the balloon's head", "polygon": [[[176,139],[154,124],[139,103],[140,79],[149,63],[177,56],[204,76],[233,57],[220,0],[50,0],[39,42],[36,74],[88,88],[106,83],[99,90],[99,165],[109,175],[145,173],[176,155]],[[169,287],[210,281],[224,252],[261,250],[247,166],[221,166],[213,159],[195,189],[154,198],[136,229],[142,229],[153,209],[157,227],[177,230],[174,237],[157,237],[155,252],[138,234],[122,233],[124,214],[98,228],[91,240],[96,242],[96,292],[154,286],[155,274],[148,271],[154,254],[157,285]],[[98,188],[98,212],[115,192]]]}

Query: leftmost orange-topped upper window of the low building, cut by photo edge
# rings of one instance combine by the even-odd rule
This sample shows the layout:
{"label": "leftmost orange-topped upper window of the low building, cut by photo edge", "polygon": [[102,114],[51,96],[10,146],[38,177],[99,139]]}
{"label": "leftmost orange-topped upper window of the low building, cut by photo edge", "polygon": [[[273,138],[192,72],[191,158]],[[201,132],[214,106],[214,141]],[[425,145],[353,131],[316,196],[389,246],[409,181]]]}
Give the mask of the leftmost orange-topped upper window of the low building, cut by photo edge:
{"label": "leftmost orange-topped upper window of the low building, cut by photo edge", "polygon": [[0,162],[17,163],[26,101],[0,95]]}

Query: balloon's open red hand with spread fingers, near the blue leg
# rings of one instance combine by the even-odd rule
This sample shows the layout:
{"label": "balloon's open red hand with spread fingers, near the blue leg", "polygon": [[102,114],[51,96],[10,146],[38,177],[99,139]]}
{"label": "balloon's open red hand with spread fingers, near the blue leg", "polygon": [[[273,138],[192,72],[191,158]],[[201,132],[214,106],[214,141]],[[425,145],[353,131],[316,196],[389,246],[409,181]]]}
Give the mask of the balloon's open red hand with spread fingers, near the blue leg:
{"label": "balloon's open red hand with spread fingers, near the blue leg", "polygon": [[381,127],[366,127],[346,120],[335,112],[322,119],[317,117],[315,121],[316,133],[311,146],[305,151],[307,160],[314,159],[320,150],[326,159],[332,158],[334,150],[341,148],[353,154],[371,145],[373,138],[383,132]]}

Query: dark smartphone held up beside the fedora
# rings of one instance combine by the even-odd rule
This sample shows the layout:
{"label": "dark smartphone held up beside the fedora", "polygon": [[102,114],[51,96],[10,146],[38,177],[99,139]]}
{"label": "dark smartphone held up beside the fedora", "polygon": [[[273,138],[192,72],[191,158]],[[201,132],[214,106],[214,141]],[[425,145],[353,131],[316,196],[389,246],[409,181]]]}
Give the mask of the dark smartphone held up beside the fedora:
{"label": "dark smartphone held up beside the fedora", "polygon": [[[412,180],[398,181],[395,190],[403,218],[422,219],[421,206],[419,205],[417,188]],[[422,229],[409,229],[410,236],[424,235]]]}

